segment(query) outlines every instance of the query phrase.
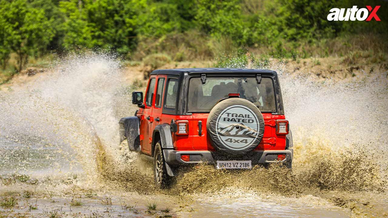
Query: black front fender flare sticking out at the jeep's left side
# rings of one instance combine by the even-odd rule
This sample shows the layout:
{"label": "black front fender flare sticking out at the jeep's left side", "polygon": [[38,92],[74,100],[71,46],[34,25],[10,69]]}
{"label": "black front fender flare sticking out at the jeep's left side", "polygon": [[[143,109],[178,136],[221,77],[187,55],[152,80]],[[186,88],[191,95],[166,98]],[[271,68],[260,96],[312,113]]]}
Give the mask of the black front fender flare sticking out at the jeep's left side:
{"label": "black front fender flare sticking out at the jeep's left side", "polygon": [[121,118],[119,124],[120,144],[127,139],[129,150],[140,151],[139,118],[136,116]]}

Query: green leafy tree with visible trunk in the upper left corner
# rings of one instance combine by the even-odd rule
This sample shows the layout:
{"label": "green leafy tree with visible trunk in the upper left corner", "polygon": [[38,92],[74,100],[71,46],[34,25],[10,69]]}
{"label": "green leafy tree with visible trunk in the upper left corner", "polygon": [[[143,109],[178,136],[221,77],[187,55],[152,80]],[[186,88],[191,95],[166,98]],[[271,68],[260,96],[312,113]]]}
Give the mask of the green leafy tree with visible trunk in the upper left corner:
{"label": "green leafy tree with visible trunk in the upper left corner", "polygon": [[17,71],[20,72],[28,62],[28,55],[35,55],[49,44],[52,29],[44,11],[30,7],[26,0],[5,1],[0,13],[9,26],[6,41],[17,54]]}

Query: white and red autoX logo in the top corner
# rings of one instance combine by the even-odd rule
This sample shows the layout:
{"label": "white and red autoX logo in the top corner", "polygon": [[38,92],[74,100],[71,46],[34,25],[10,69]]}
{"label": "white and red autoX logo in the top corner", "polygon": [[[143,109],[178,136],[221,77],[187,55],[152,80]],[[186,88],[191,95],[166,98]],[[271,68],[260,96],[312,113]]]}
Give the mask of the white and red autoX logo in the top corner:
{"label": "white and red autoX logo in the top corner", "polygon": [[[375,19],[376,21],[381,21],[379,16],[377,16],[377,11],[379,10],[380,5],[372,8],[372,6],[366,5],[366,8],[358,9],[357,6],[352,8],[332,8],[329,10],[331,12],[327,15],[328,21],[371,21]],[[346,12],[345,12],[346,10]]]}

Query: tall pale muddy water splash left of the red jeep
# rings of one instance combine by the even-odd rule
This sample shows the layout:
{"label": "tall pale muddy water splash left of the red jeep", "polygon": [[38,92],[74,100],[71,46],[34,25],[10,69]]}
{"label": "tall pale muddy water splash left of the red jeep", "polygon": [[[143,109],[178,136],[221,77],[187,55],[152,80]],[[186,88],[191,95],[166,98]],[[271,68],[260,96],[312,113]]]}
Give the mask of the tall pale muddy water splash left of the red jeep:
{"label": "tall pale muddy water splash left of the red jeep", "polygon": [[115,105],[129,99],[121,78],[113,57],[74,55],[1,93],[0,173],[97,179],[103,161],[120,157]]}

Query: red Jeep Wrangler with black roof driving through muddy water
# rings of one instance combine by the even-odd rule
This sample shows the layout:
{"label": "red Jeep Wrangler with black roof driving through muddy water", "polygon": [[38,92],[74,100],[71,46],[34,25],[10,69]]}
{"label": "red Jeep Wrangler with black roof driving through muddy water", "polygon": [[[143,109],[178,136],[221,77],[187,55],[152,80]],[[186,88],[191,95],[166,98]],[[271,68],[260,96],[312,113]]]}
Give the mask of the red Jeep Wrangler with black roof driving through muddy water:
{"label": "red Jeep Wrangler with black roof driving through muddy water", "polygon": [[121,118],[120,140],[154,159],[154,180],[167,187],[181,166],[218,169],[282,162],[293,149],[277,73],[259,69],[187,68],[151,73],[135,116]]}

